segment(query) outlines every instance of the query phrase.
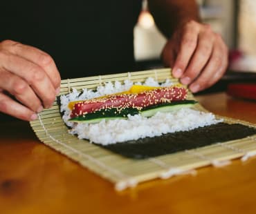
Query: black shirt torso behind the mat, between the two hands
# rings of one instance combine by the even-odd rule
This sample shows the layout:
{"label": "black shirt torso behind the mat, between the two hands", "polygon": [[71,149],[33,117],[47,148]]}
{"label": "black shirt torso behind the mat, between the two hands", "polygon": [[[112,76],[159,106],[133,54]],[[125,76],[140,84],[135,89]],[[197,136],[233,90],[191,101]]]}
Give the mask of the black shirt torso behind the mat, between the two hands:
{"label": "black shirt torso behind the mat, between the two hands", "polygon": [[0,41],[48,52],[62,79],[134,70],[139,0],[8,0],[0,8]]}

